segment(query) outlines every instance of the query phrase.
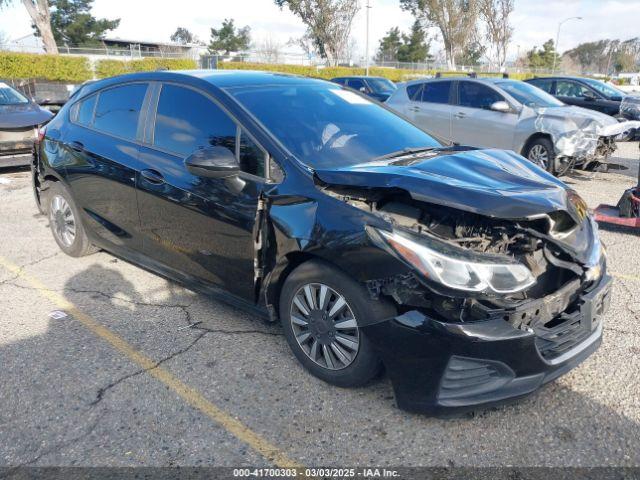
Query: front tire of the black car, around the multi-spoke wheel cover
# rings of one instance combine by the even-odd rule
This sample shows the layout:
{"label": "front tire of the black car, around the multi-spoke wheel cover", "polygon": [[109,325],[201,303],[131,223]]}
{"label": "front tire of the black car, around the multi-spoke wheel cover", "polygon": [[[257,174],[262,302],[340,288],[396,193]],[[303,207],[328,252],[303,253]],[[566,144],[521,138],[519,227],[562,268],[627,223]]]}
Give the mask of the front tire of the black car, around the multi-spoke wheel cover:
{"label": "front tire of the black car, around the multi-spoke wheel cover", "polygon": [[[367,293],[367,290],[362,285],[345,275],[337,268],[319,260],[310,260],[299,265],[287,277],[280,293],[280,319],[285,337],[287,338],[287,342],[289,343],[289,346],[296,358],[307,370],[309,370],[309,372],[327,383],[340,387],[359,387],[373,380],[381,372],[382,362],[374,351],[373,345],[362,332],[361,328],[355,329],[359,340],[359,345],[355,354],[350,350],[348,352],[351,357],[351,363],[339,369],[330,369],[326,365],[320,365],[316,361],[312,360],[310,353],[305,351],[302,345],[298,343],[294,328],[301,329],[305,327],[299,327],[297,325],[294,326],[291,319],[291,312],[292,310],[297,309],[297,307],[294,307],[294,297],[305,285],[316,286],[316,306],[319,306],[320,298],[322,298],[320,294],[322,286],[326,286],[329,290],[333,291],[333,293],[338,296],[342,296],[346,301],[347,306],[343,308],[343,312],[341,312],[340,315],[346,315],[344,310],[348,309],[353,314],[353,317],[355,317],[356,323],[360,323],[358,319],[362,318],[373,321],[391,318],[396,315],[395,307],[389,302],[372,300]],[[330,298],[336,297],[333,296]],[[328,302],[329,305],[327,305],[327,309],[329,309],[330,305],[335,305],[335,303],[337,303],[331,303],[332,300],[329,300]],[[306,305],[308,306],[308,303]],[[315,314],[320,314],[321,309],[314,310],[314,312],[316,312]],[[296,311],[296,314],[299,315],[299,312]],[[316,318],[315,320],[312,320],[311,317],[305,318],[305,320],[309,320],[310,322],[309,331],[315,327],[315,325],[312,325],[312,322],[316,322],[316,325],[317,322],[327,322],[324,323],[324,327],[327,325],[337,325],[341,323],[341,319],[338,318],[337,314],[335,315],[336,317],[333,320],[331,318]],[[344,322],[344,320],[342,320],[342,322]],[[343,332],[345,331],[338,331],[334,329],[332,339],[337,340],[337,336],[342,336],[339,334]],[[318,332],[315,331],[315,333]],[[353,334],[353,330],[349,334]],[[300,335],[300,332],[298,332],[298,335]],[[318,342],[318,345],[321,345],[320,339],[322,337],[320,335],[321,334],[318,334],[317,337],[312,335],[313,338],[311,338],[310,344],[307,345],[306,348],[312,350],[314,342]],[[323,341],[329,340],[325,337]],[[338,346],[342,348],[341,344]],[[327,346],[327,348],[329,349],[331,347]],[[322,351],[322,347],[318,347],[318,349]],[[320,355],[324,359],[326,352],[323,352]],[[336,366],[339,366],[340,359],[335,355],[333,350],[329,352],[329,356],[333,356],[334,360],[338,360]],[[324,362],[325,364],[327,363],[326,360],[324,360]]]}

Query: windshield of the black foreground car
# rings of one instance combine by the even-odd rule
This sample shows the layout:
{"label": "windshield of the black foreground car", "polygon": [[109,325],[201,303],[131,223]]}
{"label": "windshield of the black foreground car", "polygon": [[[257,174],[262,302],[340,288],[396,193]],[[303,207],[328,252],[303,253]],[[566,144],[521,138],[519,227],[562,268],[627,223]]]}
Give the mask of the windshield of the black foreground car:
{"label": "windshield of the black foreground car", "polygon": [[384,107],[338,85],[228,89],[301,162],[314,169],[365,163],[440,144]]}

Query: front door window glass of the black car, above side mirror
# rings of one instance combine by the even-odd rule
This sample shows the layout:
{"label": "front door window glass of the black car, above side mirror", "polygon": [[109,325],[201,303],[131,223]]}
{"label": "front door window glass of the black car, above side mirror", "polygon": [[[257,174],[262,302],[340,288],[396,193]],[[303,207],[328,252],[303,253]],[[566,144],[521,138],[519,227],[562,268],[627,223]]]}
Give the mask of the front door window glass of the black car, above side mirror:
{"label": "front door window glass of the black car, above side mirror", "polygon": [[165,84],[160,91],[153,144],[187,157],[198,148],[226,147],[236,152],[236,124],[204,95]]}

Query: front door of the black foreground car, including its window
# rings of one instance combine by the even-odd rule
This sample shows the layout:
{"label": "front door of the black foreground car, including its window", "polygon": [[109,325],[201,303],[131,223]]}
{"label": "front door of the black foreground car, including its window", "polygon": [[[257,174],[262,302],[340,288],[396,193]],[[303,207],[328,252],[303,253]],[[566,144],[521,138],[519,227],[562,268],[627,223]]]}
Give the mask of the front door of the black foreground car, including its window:
{"label": "front door of the black foreground car, including its window", "polygon": [[[138,205],[145,254],[191,279],[253,299],[253,228],[267,154],[210,96],[164,83],[141,147]],[[228,148],[235,179],[192,175],[184,160],[205,146]]]}

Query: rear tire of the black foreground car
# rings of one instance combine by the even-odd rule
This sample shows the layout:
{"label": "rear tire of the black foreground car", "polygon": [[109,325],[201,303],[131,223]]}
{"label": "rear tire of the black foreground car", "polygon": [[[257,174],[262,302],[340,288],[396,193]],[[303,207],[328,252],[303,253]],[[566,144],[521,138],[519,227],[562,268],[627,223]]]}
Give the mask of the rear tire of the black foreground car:
{"label": "rear tire of the black foreground car", "polygon": [[[69,191],[59,182],[51,182],[51,186],[47,190],[46,199],[48,202],[46,210],[48,211],[49,226],[51,228],[53,238],[60,247],[60,250],[71,257],[83,257],[96,252],[98,249],[89,241],[89,237],[87,237],[87,233],[82,225],[80,212],[78,211]],[[74,235],[72,241],[68,241],[69,236],[65,237],[59,230],[57,230],[60,223],[68,224],[69,220],[69,218],[65,216],[66,209],[64,209],[63,212],[63,209],[55,206],[59,205],[56,202],[60,202],[60,199],[63,199],[64,202],[66,202],[66,205],[68,205],[71,214],[73,215]]]}

